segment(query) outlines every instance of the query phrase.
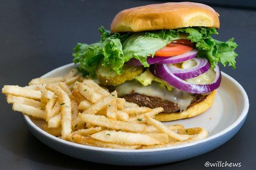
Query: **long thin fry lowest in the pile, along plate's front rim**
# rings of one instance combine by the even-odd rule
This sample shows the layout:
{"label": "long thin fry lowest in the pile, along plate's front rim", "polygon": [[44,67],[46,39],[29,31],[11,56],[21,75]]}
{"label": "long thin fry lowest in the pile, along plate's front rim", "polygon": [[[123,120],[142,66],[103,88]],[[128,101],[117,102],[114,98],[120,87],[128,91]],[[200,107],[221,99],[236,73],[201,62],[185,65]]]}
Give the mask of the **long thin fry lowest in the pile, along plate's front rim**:
{"label": "long thin fry lowest in the pile, along plate's front rim", "polygon": [[93,147],[106,147],[106,148],[127,149],[127,150],[129,149],[133,150],[140,147],[140,145],[123,145],[123,144],[107,143],[107,142],[99,141],[87,136],[82,136],[79,134],[72,135],[72,139],[75,143],[89,145]]}

